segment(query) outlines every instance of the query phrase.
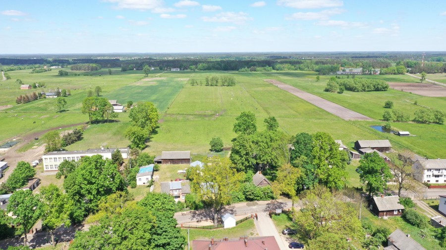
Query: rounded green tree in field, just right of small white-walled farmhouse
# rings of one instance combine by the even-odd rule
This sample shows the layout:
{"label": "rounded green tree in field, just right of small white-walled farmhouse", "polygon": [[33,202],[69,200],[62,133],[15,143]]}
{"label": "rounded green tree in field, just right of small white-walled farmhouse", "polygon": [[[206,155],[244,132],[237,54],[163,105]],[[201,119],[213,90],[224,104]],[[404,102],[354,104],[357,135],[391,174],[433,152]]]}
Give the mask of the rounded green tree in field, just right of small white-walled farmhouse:
{"label": "rounded green tree in field, just right of small white-walled farmhouse", "polygon": [[151,102],[138,103],[136,107],[130,109],[128,117],[133,125],[144,128],[149,133],[158,127],[158,109]]}

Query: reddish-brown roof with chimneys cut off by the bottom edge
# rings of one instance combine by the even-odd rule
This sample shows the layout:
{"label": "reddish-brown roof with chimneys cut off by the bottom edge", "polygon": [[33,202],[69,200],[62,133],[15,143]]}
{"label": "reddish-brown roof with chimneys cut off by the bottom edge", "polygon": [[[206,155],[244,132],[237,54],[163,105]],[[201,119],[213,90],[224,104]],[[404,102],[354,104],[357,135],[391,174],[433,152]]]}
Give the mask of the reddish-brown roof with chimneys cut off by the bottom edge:
{"label": "reddish-brown roof with chimneys cut off by the bottom edge", "polygon": [[280,250],[274,236],[240,237],[238,239],[223,238],[222,240],[194,240],[193,250]]}

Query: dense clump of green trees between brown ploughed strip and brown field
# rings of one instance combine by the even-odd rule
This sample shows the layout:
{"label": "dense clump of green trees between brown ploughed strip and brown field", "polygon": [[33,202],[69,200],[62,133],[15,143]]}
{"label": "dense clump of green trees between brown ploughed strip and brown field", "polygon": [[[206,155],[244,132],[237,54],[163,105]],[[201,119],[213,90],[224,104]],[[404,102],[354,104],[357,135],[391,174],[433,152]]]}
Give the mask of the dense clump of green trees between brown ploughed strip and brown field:
{"label": "dense clump of green trees between brown ploughed strip and brown field", "polygon": [[370,92],[370,91],[386,91],[389,89],[389,84],[384,80],[378,79],[336,79],[331,77],[327,83],[324,91],[342,93],[343,90],[353,92]]}

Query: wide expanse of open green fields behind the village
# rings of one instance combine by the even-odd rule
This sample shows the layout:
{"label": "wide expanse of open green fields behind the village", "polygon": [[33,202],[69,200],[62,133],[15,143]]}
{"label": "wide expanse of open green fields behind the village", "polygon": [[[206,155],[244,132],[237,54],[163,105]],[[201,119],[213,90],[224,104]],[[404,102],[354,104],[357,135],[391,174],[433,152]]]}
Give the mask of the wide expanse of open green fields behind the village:
{"label": "wide expanse of open green fields behind the village", "polygon": [[[209,141],[214,136],[223,139],[225,147],[231,146],[235,137],[232,131],[235,117],[242,111],[251,111],[256,115],[259,129],[264,129],[263,120],[275,116],[280,128],[288,134],[299,132],[313,133],[325,131],[335,139],[341,139],[349,147],[358,139],[387,139],[397,148],[409,148],[416,153],[430,158],[446,157],[441,145],[446,142],[446,125],[424,125],[415,123],[392,123],[398,130],[408,130],[416,136],[398,137],[393,134],[378,132],[369,125],[381,125],[385,109],[384,102],[392,100],[394,109],[411,115],[423,106],[442,109],[446,97],[426,97],[413,93],[389,89],[383,92],[351,92],[343,94],[324,92],[329,76],[321,76],[316,82],[314,72],[220,72],[220,71],[154,71],[144,78],[141,71],[120,72],[112,69],[109,75],[106,69],[89,72],[80,76],[57,76],[56,71],[29,74],[30,70],[11,71],[11,80],[1,82],[0,105],[14,105],[0,111],[0,126],[4,128],[0,140],[33,133],[61,125],[87,122],[88,117],[80,112],[82,100],[87,91],[101,86],[102,96],[116,99],[122,104],[131,100],[152,101],[160,112],[160,124],[152,135],[146,149],[151,154],[163,150],[191,150],[192,153],[205,155],[209,152]],[[72,72],[71,72],[72,73]],[[78,73],[78,72],[76,72]],[[163,73],[159,77],[156,75]],[[236,78],[235,86],[205,86],[187,84],[188,79],[199,83],[206,76],[230,75]],[[155,77],[155,78],[154,78]],[[364,76],[383,79],[387,82],[416,83],[408,76]],[[57,113],[55,99],[36,100],[26,104],[15,104],[15,97],[32,90],[19,90],[19,84],[46,83],[45,90],[70,89],[71,96],[66,97],[65,112]],[[344,121],[321,108],[318,108],[284,90],[279,89],[265,79],[274,79],[314,95],[320,96],[347,109],[368,116],[375,121]],[[35,89],[38,91],[40,89]],[[414,105],[414,102],[419,105]],[[84,139],[67,149],[85,149],[106,146],[125,146],[128,141],[122,132],[130,125],[128,113],[121,113],[118,122],[90,125],[84,132]],[[33,122],[36,122],[35,124]],[[434,143],[435,142],[435,143]]]}

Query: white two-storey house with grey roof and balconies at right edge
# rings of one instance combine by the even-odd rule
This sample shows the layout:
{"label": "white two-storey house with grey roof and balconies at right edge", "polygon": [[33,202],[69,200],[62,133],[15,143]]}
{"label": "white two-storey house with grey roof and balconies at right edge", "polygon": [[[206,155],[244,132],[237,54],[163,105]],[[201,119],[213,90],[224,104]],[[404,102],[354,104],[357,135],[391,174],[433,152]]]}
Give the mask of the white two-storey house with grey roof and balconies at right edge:
{"label": "white two-storey house with grey roof and balconies at right edge", "polygon": [[446,159],[422,159],[412,165],[412,176],[421,183],[446,183]]}

